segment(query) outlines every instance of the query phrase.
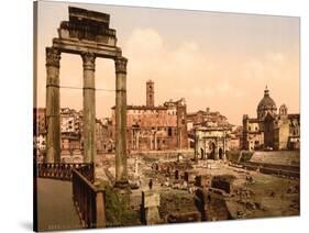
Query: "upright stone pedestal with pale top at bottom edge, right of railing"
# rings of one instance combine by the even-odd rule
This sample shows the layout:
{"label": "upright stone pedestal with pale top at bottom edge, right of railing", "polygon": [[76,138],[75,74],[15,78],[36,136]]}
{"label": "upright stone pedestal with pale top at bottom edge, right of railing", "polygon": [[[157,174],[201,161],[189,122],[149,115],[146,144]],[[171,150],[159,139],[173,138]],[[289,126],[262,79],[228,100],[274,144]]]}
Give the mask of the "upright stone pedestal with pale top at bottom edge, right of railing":
{"label": "upright stone pedestal with pale top at bottom edge, right of railing", "polygon": [[142,192],[142,223],[153,225],[161,223],[158,214],[159,195],[155,191],[148,190]]}

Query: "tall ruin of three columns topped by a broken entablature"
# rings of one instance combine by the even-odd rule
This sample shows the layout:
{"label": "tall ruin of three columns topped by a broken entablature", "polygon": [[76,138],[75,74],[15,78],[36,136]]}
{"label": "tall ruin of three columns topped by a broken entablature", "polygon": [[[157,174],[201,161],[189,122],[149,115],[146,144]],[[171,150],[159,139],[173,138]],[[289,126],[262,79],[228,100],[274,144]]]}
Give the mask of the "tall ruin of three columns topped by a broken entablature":
{"label": "tall ruin of three columns topped by a broken entablature", "polygon": [[117,46],[115,30],[109,27],[110,15],[79,8],[68,8],[69,20],[58,27],[58,37],[46,47],[46,162],[60,163],[59,68],[62,53],[82,59],[82,136],[84,163],[96,157],[96,58],[114,60],[115,66],[115,181],[128,184],[126,171],[126,63]]}

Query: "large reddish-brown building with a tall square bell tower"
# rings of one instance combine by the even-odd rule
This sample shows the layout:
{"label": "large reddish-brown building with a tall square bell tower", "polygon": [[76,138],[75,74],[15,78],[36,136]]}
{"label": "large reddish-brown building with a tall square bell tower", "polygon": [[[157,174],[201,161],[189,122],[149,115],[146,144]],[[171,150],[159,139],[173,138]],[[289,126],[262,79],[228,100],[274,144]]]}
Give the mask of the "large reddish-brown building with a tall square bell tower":
{"label": "large reddish-brown building with a tall square bell tower", "polygon": [[[130,151],[188,148],[185,99],[154,104],[154,82],[146,82],[146,106],[126,107],[126,136]],[[114,110],[114,108],[112,108]],[[112,111],[114,138],[115,119]]]}

